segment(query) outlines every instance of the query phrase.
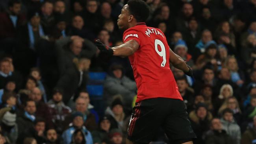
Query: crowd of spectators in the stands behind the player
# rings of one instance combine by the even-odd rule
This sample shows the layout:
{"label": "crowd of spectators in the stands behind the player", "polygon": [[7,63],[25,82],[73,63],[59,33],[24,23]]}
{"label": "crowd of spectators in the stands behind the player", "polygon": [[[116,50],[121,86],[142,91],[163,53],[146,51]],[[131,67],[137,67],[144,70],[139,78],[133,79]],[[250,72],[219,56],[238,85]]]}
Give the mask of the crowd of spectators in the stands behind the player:
{"label": "crowd of spectators in the stands behind the player", "polygon": [[[171,66],[195,144],[256,144],[256,0],[145,0],[194,78]],[[0,144],[123,144],[137,88],[122,44],[127,0],[1,0]],[[86,90],[107,72],[103,111]],[[157,75],[157,74],[156,74]],[[159,85],[161,87],[161,85]],[[154,143],[168,143],[155,130]]]}

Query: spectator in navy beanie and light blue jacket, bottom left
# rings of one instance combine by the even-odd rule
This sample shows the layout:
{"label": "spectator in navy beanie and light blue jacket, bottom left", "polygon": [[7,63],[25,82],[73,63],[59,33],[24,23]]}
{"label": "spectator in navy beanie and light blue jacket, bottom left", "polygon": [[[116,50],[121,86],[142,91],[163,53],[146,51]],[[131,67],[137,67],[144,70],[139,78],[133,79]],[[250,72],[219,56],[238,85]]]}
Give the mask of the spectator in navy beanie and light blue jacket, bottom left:
{"label": "spectator in navy beanie and light blue jacket, bottom left", "polygon": [[72,113],[72,123],[70,124],[70,127],[62,134],[63,144],[70,144],[72,141],[72,135],[76,129],[82,129],[82,132],[85,134],[84,137],[86,144],[93,144],[93,138],[90,131],[88,131],[85,126],[83,126],[83,118],[84,116],[81,112],[77,111]]}

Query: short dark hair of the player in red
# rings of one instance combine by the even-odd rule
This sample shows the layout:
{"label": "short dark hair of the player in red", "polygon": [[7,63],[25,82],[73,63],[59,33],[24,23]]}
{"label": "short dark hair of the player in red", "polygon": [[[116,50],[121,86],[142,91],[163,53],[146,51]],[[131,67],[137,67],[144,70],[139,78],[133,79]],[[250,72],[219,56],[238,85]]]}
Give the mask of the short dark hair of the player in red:
{"label": "short dark hair of the player in red", "polygon": [[130,14],[134,15],[137,22],[146,22],[150,12],[146,2],[143,0],[129,0],[127,4]]}

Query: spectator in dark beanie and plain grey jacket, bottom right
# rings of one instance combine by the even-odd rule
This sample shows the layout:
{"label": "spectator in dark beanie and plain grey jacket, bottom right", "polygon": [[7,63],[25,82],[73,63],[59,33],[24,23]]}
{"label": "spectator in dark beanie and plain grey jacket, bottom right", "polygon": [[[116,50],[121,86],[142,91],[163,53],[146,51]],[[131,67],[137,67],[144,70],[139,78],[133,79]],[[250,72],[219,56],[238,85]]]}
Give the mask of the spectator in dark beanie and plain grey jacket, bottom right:
{"label": "spectator in dark beanie and plain grey jacket, bottom right", "polygon": [[227,108],[223,110],[221,123],[223,125],[223,129],[233,139],[234,144],[240,144],[241,130],[237,122],[234,120],[233,111],[231,109]]}

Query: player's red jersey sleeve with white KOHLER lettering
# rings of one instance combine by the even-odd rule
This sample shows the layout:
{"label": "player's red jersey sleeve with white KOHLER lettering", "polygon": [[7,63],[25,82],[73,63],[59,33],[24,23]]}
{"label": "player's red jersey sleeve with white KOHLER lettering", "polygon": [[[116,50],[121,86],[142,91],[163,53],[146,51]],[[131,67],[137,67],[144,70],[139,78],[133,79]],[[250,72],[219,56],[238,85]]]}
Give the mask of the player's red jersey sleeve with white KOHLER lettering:
{"label": "player's red jersey sleeve with white KOHLER lettering", "polygon": [[134,29],[124,31],[122,41],[125,43],[132,39],[137,41],[139,43],[139,45],[141,45],[141,34],[139,31],[134,30]]}

